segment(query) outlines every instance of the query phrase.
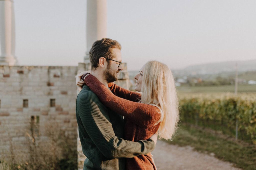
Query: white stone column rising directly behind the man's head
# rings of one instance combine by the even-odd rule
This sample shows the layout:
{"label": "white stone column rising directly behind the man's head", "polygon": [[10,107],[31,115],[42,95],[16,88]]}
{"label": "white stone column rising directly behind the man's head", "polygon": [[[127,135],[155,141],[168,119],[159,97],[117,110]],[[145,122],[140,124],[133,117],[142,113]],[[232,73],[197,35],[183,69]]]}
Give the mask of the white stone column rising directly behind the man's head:
{"label": "white stone column rising directly behind the man's head", "polygon": [[87,0],[86,18],[86,55],[85,63],[90,63],[89,51],[96,40],[107,36],[107,1]]}

